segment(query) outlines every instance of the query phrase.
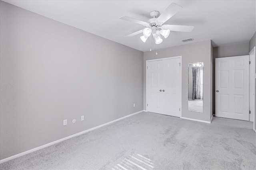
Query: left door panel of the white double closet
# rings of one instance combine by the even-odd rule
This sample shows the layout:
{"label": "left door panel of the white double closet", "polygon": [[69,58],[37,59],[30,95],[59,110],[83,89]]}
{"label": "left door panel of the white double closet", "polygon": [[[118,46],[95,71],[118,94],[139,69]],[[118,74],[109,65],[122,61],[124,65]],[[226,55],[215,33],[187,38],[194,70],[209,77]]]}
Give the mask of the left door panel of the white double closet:
{"label": "left door panel of the white double closet", "polygon": [[[162,60],[147,63],[146,86],[149,112],[162,113],[160,94],[162,90]],[[160,91],[161,90],[161,91]]]}

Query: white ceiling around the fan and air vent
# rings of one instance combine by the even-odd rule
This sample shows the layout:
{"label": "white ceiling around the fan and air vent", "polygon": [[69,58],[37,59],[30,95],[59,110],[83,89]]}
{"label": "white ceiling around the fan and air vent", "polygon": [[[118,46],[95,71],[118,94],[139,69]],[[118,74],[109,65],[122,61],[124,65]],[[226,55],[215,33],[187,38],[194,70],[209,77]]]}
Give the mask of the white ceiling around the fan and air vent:
{"label": "white ceiling around the fan and air vent", "polygon": [[[92,34],[110,39],[140,51],[149,51],[150,39],[125,35],[143,29],[143,25],[120,20],[128,16],[150,19],[149,13],[160,14],[172,3],[182,6],[166,24],[193,25],[192,32],[171,31],[158,49],[211,39],[214,47],[250,41],[256,31],[255,0],[4,0],[10,4],[60,21]],[[194,38],[194,41],[182,42]],[[152,49],[156,44],[152,42]]]}

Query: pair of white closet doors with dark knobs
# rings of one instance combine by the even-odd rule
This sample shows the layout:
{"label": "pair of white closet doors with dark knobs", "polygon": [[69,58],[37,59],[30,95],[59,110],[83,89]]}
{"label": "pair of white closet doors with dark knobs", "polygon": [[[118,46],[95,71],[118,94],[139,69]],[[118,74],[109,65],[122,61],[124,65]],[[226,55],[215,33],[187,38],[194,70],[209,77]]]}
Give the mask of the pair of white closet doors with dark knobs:
{"label": "pair of white closet doors with dark knobs", "polygon": [[180,63],[180,58],[147,62],[147,111],[181,116]]}

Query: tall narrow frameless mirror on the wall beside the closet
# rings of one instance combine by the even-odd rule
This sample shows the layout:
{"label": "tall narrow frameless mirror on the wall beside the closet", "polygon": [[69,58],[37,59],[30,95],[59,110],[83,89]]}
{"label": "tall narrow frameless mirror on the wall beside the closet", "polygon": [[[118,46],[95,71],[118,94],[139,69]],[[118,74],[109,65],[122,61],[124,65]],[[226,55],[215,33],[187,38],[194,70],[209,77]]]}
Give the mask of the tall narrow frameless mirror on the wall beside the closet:
{"label": "tall narrow frameless mirror on the wall beside the closet", "polygon": [[203,112],[204,63],[188,64],[188,110]]}

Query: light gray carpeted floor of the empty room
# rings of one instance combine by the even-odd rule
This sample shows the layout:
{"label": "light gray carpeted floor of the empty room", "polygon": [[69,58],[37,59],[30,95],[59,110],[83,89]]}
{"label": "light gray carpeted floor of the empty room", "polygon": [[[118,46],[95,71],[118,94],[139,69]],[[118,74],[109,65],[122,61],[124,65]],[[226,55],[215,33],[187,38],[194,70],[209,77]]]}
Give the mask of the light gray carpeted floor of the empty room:
{"label": "light gray carpeted floor of the empty room", "polygon": [[142,112],[0,164],[1,169],[256,169],[252,122]]}

